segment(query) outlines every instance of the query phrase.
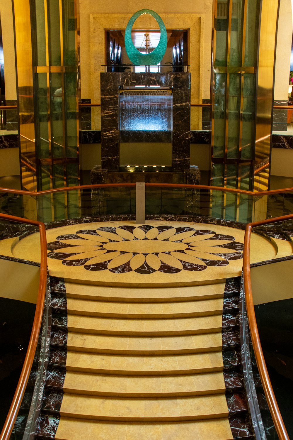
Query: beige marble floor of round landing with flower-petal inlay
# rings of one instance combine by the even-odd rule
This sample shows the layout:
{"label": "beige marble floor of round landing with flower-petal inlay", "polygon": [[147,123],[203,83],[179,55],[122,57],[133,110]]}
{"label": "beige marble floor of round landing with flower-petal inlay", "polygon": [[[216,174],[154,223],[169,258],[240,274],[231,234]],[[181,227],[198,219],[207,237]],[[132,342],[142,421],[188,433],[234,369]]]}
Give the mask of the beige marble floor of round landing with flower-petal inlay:
{"label": "beige marble floor of round landing with flower-petal inlay", "polygon": [[[62,260],[57,260],[54,258],[48,258],[48,267],[51,275],[64,277],[66,279],[72,280],[84,280],[85,282],[97,282],[99,284],[116,284],[117,285],[127,285],[135,283],[136,286],[149,284],[152,286],[162,286],[166,285],[188,285],[196,282],[203,282],[206,280],[215,279],[225,279],[227,277],[240,275],[242,271],[242,259],[229,260],[226,266],[207,266],[204,270],[190,271],[184,270],[182,268],[182,263],[177,259],[178,255],[182,256],[182,251],[184,252],[184,258],[186,262],[199,262],[202,260],[199,258],[208,259],[211,257],[213,260],[223,260],[222,257],[218,257],[215,253],[228,253],[235,252],[233,250],[224,248],[212,248],[217,245],[225,245],[229,243],[229,240],[211,240],[213,234],[209,231],[213,231],[215,234],[228,235],[235,238],[236,242],[243,243],[244,231],[224,226],[217,226],[211,224],[196,224],[191,222],[169,222],[169,221],[148,221],[148,225],[152,226],[152,230],[148,232],[147,239],[145,234],[141,233],[139,229],[135,229],[133,234],[129,231],[123,231],[122,226],[129,225],[133,228],[137,225],[134,221],[127,222],[103,222],[103,223],[87,223],[87,224],[77,224],[69,225],[65,227],[58,227],[46,231],[47,242],[54,242],[59,236],[64,236],[68,234],[75,234],[76,231],[80,230],[96,230],[101,227],[114,227],[118,229],[121,237],[118,237],[120,241],[112,242],[113,234],[103,232],[103,237],[94,235],[81,234],[80,238],[86,238],[86,240],[63,240],[64,243],[68,244],[69,247],[64,249],[57,249],[55,252],[64,252],[66,259],[74,258],[92,258],[94,262],[100,262],[105,259],[103,253],[111,251],[112,261],[109,262],[108,268],[105,270],[91,271],[86,270],[83,265],[79,266],[69,266],[62,264]],[[160,235],[153,238],[154,231],[156,227],[167,226],[169,230],[161,232]],[[182,234],[177,234],[174,236],[174,231],[179,227],[192,227],[195,230],[206,231],[206,234],[197,235],[192,237],[191,233],[183,232]],[[156,234],[158,232],[155,232]],[[108,234],[108,235],[107,235]],[[173,235],[172,235],[173,234]],[[132,237],[131,237],[132,235]],[[117,237],[117,235],[116,235]],[[133,239],[135,237],[135,239]],[[104,241],[103,243],[98,242],[98,240]],[[193,242],[192,242],[193,241]],[[230,240],[231,241],[231,240]],[[5,243],[4,243],[5,242]],[[72,247],[74,246],[74,249]],[[25,260],[40,260],[40,246],[39,246],[39,235],[33,234],[28,237],[23,238],[20,241],[15,241],[15,239],[3,240],[1,243],[0,251],[6,255],[10,253],[14,257],[23,258]],[[103,247],[106,250],[99,250],[98,247]],[[93,249],[94,252],[93,253]],[[184,249],[187,249],[185,252]],[[73,257],[69,256],[69,253],[78,253]],[[121,253],[122,252],[122,253]],[[167,253],[164,253],[167,252]],[[179,252],[181,252],[179,254]],[[268,239],[261,237],[257,234],[252,234],[251,239],[251,263],[270,260],[275,258],[277,254],[276,246]],[[67,253],[67,255],[66,255]],[[134,257],[133,257],[134,253]],[[117,273],[110,271],[111,268],[115,268],[116,265],[123,265],[130,260],[130,266],[137,268],[139,264],[144,260],[142,253],[148,254],[146,261],[156,269],[153,273],[142,274],[137,273],[134,270],[128,271],[126,273],[121,273],[119,270]],[[158,261],[159,258],[164,264],[170,265],[178,269],[177,273],[166,273],[164,271],[159,271]],[[197,258],[197,256],[199,258]],[[87,263],[85,264],[87,265]]]}

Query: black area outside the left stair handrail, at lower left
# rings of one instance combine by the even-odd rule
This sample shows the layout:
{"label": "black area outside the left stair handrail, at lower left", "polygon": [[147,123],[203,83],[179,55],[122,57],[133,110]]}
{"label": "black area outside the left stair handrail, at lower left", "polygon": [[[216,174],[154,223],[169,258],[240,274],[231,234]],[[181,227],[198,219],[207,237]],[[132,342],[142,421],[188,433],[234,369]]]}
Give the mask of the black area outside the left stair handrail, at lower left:
{"label": "black area outside the left stair handrail, at lower left", "polygon": [[35,310],[36,304],[0,298],[0,431],[18,384]]}

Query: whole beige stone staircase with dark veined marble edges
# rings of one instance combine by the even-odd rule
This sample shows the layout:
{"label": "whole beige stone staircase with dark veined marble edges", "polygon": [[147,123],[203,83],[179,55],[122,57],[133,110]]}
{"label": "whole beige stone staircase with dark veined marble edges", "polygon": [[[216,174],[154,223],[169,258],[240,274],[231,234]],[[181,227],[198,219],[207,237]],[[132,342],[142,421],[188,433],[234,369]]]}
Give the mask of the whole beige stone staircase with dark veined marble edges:
{"label": "whole beige stone staircase with dark veined marble edges", "polygon": [[240,362],[239,278],[170,288],[54,279],[51,287],[38,439],[253,438]]}

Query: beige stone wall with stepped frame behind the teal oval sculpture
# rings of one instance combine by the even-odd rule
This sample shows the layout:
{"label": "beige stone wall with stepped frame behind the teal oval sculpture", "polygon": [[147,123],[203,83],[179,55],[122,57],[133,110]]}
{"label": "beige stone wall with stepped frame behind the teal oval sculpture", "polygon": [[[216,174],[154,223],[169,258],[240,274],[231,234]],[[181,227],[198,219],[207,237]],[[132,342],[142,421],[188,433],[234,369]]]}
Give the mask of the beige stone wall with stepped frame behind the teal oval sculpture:
{"label": "beige stone wall with stepped frame behind the teal oval sculpture", "polygon": [[[212,0],[150,0],[147,7],[156,11],[166,29],[190,29],[189,56],[192,74],[191,102],[210,98],[210,59]],[[105,29],[125,29],[136,11],[146,7],[137,0],[123,2],[80,0],[81,97],[100,102],[100,72],[105,64]],[[115,13],[113,13],[115,11]],[[153,18],[141,16],[137,29],[152,29]],[[159,28],[157,26],[157,28]],[[192,113],[192,128],[198,124],[199,110]],[[93,110],[94,128],[99,128],[99,110]]]}

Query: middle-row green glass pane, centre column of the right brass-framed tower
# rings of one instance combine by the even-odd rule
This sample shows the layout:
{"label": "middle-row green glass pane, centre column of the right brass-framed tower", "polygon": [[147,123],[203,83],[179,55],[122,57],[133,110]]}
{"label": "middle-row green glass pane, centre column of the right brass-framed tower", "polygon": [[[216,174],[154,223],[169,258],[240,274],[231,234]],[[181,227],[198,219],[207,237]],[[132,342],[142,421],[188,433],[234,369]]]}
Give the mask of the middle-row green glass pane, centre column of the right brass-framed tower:
{"label": "middle-row green glass pane, centre column of the right brass-framed tower", "polygon": [[240,128],[241,74],[229,74],[228,158],[238,158]]}

